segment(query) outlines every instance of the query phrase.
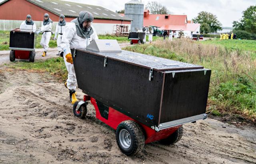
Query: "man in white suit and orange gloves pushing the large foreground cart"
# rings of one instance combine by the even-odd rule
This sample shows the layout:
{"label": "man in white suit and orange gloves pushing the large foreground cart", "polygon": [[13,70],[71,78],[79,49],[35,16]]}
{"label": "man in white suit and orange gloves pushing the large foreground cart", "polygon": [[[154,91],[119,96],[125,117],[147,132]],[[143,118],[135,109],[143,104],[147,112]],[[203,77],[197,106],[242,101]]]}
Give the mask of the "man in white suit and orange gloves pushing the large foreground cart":
{"label": "man in white suit and orange gloves pushing the large foreground cart", "polygon": [[60,47],[63,51],[63,57],[68,70],[68,79],[65,83],[65,87],[69,89],[70,101],[74,104],[76,101],[76,73],[73,65],[73,59],[71,55],[72,48],[86,48],[92,40],[98,39],[98,35],[92,21],[93,15],[87,11],[81,11],[79,17],[72,20],[70,24],[66,26]]}

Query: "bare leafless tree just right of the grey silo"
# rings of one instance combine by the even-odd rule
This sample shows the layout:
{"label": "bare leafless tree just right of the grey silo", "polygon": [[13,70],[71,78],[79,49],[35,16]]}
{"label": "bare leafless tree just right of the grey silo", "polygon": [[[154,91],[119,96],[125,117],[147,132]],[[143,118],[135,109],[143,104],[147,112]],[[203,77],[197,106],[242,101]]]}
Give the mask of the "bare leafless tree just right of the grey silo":
{"label": "bare leafless tree just right of the grey silo", "polygon": [[162,4],[152,1],[148,2],[146,9],[150,11],[151,14],[170,14],[170,11]]}

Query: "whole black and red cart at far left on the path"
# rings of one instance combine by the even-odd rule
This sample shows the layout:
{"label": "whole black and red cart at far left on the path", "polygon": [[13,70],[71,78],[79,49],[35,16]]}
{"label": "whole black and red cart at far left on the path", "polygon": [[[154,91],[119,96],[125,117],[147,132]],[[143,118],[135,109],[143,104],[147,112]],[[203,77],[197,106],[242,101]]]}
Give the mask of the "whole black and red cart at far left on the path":
{"label": "whole black and red cart at far left on the path", "polygon": [[14,29],[10,31],[10,61],[27,59],[34,62],[36,35],[34,32]]}

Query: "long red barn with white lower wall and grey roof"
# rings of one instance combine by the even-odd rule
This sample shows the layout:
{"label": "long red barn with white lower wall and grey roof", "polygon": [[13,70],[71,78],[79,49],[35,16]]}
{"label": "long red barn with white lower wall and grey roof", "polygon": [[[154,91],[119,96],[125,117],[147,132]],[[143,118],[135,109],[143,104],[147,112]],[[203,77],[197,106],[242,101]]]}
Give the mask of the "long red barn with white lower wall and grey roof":
{"label": "long red barn with white lower wall and grey roof", "polygon": [[80,11],[86,10],[94,15],[93,26],[98,34],[112,34],[114,26],[127,25],[130,28],[131,20],[120,16],[106,8],[79,4],[60,0],[4,0],[0,2],[0,30],[11,30],[20,27],[26,15],[30,14],[36,22],[37,28],[41,26],[45,13],[54,21],[53,30],[59,16],[66,16],[70,22],[76,18]]}

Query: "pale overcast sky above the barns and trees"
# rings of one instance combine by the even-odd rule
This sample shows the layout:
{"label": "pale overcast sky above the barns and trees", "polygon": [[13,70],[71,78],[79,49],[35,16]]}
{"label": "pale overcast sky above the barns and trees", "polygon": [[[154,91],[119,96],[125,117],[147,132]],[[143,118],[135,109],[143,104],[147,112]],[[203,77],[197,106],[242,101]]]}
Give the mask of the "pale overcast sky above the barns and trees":
{"label": "pale overcast sky above the barns and trees", "polygon": [[[124,4],[129,0],[66,0],[102,6],[112,11],[124,9]],[[151,0],[142,0],[146,6]],[[154,1],[154,0],[152,0]],[[198,12],[206,11],[218,17],[218,20],[225,27],[232,27],[234,20],[242,17],[242,11],[251,5],[256,5],[256,0],[157,0],[166,6],[172,14],[186,14],[188,20],[196,17]]]}

